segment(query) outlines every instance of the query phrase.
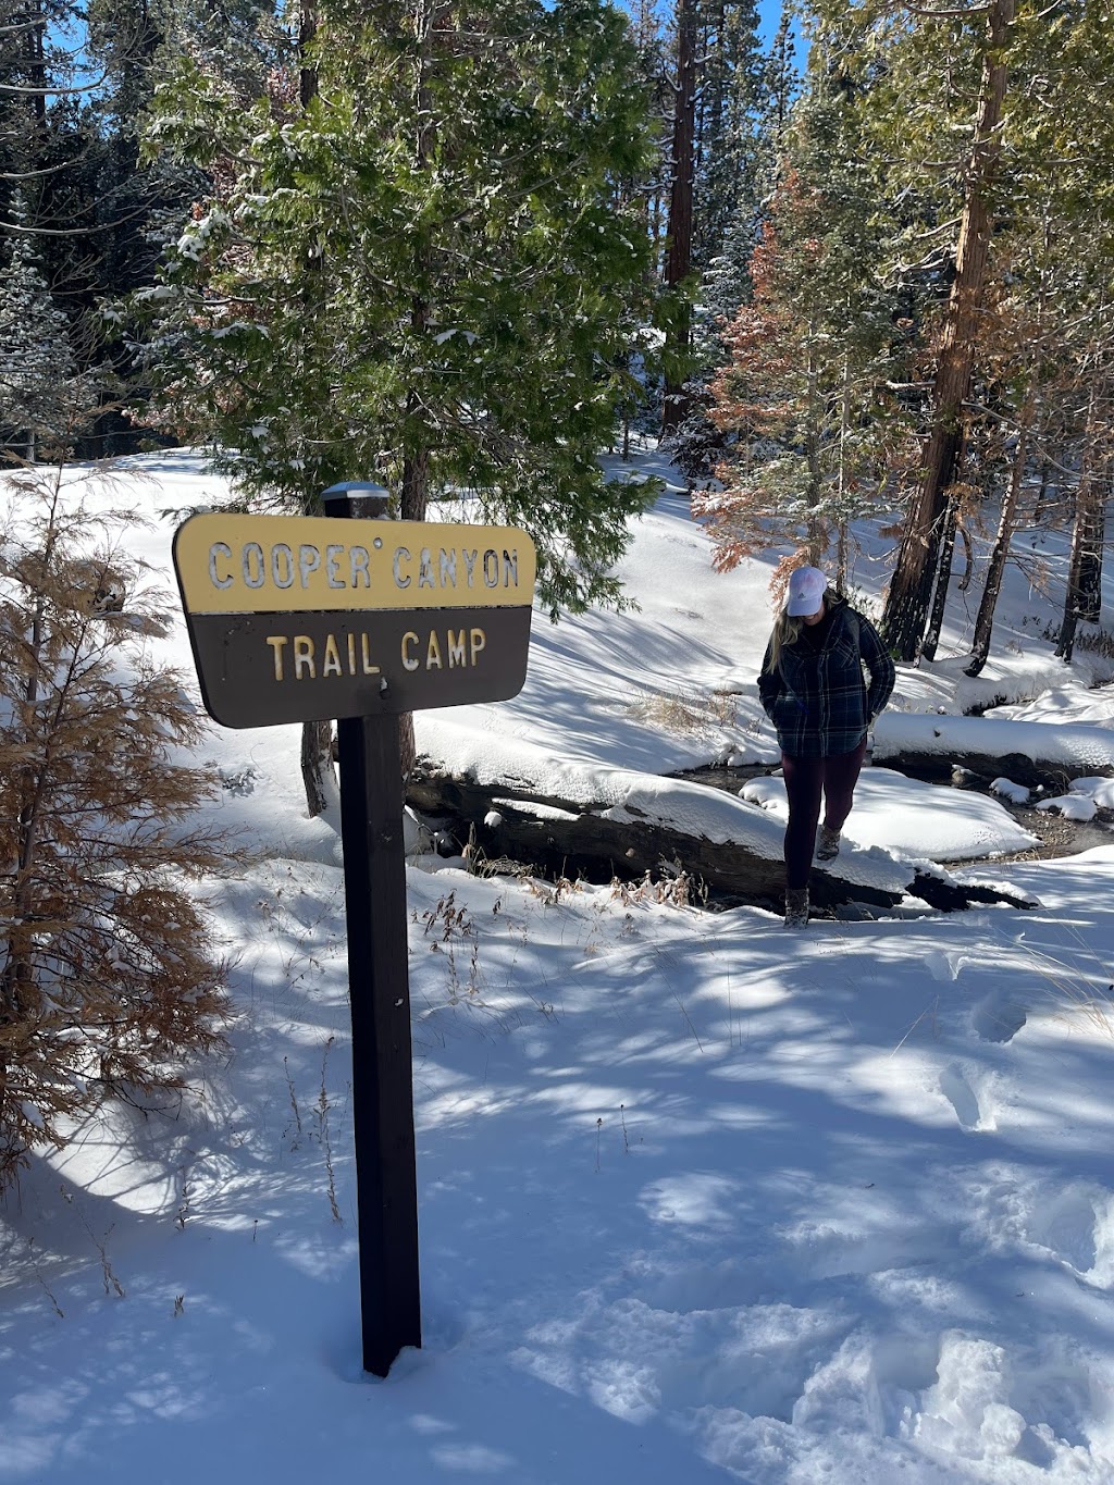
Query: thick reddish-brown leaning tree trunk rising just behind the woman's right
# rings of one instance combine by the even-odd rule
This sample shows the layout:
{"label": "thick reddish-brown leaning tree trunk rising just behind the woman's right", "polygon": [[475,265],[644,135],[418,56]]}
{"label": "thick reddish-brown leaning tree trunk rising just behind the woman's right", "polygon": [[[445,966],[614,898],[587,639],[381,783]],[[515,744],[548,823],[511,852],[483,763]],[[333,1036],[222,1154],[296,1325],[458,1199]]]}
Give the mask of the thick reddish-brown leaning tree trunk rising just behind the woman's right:
{"label": "thick reddish-brown leaning tree trunk rising just behind the woman's right", "polygon": [[989,192],[1001,154],[1001,116],[1009,68],[1004,48],[1016,0],[994,0],[988,19],[979,111],[967,169],[967,189],[943,337],[936,367],[934,416],[921,460],[921,480],[911,505],[897,554],[897,566],[882,615],[882,634],[900,659],[916,656],[943,536],[948,489],[962,444],[962,408],[967,401],[979,318],[983,306],[986,261],[991,247]]}

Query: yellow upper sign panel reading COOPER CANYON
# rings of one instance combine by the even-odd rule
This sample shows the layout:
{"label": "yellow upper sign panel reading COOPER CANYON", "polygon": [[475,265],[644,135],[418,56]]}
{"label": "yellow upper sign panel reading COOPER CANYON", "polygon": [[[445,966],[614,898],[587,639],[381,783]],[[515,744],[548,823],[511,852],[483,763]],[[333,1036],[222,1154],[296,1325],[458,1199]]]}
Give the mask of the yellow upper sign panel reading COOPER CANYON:
{"label": "yellow upper sign panel reading COOPER CANYON", "polygon": [[187,613],[515,607],[536,558],[514,526],[192,515],[174,538]]}

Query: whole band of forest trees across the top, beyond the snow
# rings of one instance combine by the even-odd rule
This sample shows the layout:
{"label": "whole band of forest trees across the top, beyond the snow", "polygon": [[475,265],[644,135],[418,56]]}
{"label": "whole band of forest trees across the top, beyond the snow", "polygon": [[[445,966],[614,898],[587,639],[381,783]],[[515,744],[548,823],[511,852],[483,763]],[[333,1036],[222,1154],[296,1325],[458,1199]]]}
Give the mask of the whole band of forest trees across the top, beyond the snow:
{"label": "whole band of forest trees across the top, beyond the snow", "polygon": [[[208,443],[306,509],[336,478],[382,480],[404,515],[498,486],[533,535],[538,490],[576,487],[556,512],[576,561],[542,552],[557,612],[616,597],[637,508],[612,489],[593,511],[590,446],[664,432],[722,566],[789,544],[842,578],[848,521],[894,512],[903,659],[934,653],[974,523],[1000,529],[974,671],[1012,532],[1071,527],[1069,659],[1110,486],[1107,21],[3,0],[4,441]],[[481,431],[462,377],[517,425]]]}

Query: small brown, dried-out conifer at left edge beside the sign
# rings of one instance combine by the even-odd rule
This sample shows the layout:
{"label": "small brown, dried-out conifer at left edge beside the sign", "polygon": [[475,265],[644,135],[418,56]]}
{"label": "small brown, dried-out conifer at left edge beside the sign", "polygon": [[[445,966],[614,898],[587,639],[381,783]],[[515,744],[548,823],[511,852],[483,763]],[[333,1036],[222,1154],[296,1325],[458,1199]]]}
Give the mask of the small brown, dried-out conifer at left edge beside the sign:
{"label": "small brown, dried-out conifer at left edge beside the sign", "polygon": [[10,475],[0,530],[0,1187],[107,1097],[181,1087],[220,1042],[221,971],[184,876],[212,781],[146,640],[166,613],[61,466]]}

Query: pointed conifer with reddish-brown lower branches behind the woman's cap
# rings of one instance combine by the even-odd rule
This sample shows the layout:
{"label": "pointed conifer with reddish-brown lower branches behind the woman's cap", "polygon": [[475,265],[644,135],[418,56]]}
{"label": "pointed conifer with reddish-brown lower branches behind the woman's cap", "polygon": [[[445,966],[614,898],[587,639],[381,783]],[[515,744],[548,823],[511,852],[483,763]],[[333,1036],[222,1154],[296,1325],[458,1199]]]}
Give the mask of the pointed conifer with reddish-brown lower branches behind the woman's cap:
{"label": "pointed conifer with reddish-brown lower branches behind the woman's cap", "polygon": [[711,420],[729,441],[720,490],[694,500],[716,564],[790,544],[814,563],[876,509],[911,459],[894,388],[909,358],[908,304],[885,282],[887,215],[824,39],[783,138],[783,178],[750,264],[752,300],[723,334]]}

